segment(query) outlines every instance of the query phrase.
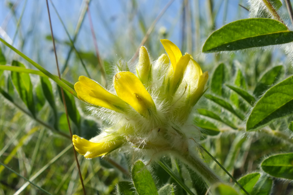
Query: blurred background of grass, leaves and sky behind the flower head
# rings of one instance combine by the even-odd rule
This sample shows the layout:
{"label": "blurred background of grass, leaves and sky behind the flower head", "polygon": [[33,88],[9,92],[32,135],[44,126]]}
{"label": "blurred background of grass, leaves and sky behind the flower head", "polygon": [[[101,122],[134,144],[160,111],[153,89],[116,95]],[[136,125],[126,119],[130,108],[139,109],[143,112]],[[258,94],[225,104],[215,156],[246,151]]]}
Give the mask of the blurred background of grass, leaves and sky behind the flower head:
{"label": "blurred background of grass, leaves and sky behind the flower head", "polygon": [[[190,53],[210,75],[209,89],[197,104],[198,112],[194,116],[195,124],[203,129],[202,145],[236,179],[247,173],[261,173],[261,177],[257,174],[248,176],[261,178],[259,181],[264,181],[269,186],[264,188],[269,190],[257,191],[263,187],[258,182],[254,183],[256,187],[251,189],[251,194],[292,194],[291,180],[272,179],[260,167],[266,156],[292,151],[292,116],[288,114],[278,118],[254,132],[245,131],[248,115],[254,106],[252,100],[257,101],[267,89],[293,73],[291,56],[285,55],[286,48],[268,46],[202,53],[203,43],[215,29],[249,17],[249,12],[238,4],[247,9],[250,9],[250,4],[242,0],[235,2],[150,1],[154,6],[151,7],[147,5],[148,1],[132,0],[116,1],[118,5],[115,7],[111,2],[91,1],[89,8],[94,20],[95,40],[87,16],[87,1],[74,2],[74,5],[71,1],[53,1],[61,19],[49,1],[62,78],[72,87],[78,76],[86,76],[88,72],[92,79],[107,88],[111,85],[116,64],[125,66],[137,62],[136,52],[144,37],[142,44],[153,59],[165,52],[159,39],[179,43],[181,51]],[[274,6],[280,6],[278,1],[275,2]],[[170,7],[166,7],[164,12],[168,3]],[[19,51],[56,74],[45,1],[3,1],[0,5],[2,10],[6,10],[5,18],[0,21],[1,37],[10,44],[13,42]],[[72,10],[65,12],[61,7],[64,5]],[[283,4],[278,8],[279,15],[289,24],[286,6]],[[148,34],[153,22],[154,28]],[[29,28],[27,24],[30,24]],[[68,29],[70,38],[65,29]],[[98,50],[94,42],[97,42]],[[35,68],[4,44],[0,44],[0,49],[0,162],[52,194],[82,194],[60,87],[36,72],[17,72],[16,67]],[[6,70],[4,66],[15,66],[15,71]],[[87,106],[67,91],[65,98],[73,134],[86,139],[97,135],[104,122],[90,115]],[[291,107],[289,109],[292,110]],[[223,180],[230,182],[227,174],[206,153],[202,156]],[[78,155],[87,194],[115,194],[117,189],[119,194],[123,194],[125,189],[129,192],[128,186],[133,186],[129,182],[132,165],[128,158],[123,153],[92,160]],[[166,157],[164,161],[192,193],[205,194],[203,192],[208,187],[196,173],[174,159]],[[136,165],[141,166],[139,162]],[[175,189],[175,194],[186,194],[161,166],[150,169],[158,189]],[[215,189],[218,188],[221,186]],[[0,166],[0,194],[46,193]]]}

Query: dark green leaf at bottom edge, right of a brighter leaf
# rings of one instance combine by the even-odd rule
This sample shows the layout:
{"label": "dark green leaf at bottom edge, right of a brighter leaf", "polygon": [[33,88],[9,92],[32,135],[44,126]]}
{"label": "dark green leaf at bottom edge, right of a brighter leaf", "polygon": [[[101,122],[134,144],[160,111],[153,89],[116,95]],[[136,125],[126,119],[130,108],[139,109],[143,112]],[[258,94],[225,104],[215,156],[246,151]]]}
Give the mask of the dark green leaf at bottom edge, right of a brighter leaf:
{"label": "dark green leaf at bottom edge, right of a brighter leaf", "polygon": [[261,176],[250,194],[253,195],[269,195],[273,186],[273,180],[270,177]]}

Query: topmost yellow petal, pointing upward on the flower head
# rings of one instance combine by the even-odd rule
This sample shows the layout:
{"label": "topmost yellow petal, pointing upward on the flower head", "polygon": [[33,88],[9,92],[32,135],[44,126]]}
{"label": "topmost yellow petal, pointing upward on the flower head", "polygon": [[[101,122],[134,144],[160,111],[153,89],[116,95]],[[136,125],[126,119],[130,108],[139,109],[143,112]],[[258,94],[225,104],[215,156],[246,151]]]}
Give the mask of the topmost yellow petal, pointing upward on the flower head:
{"label": "topmost yellow petal, pointing upward on the flower head", "polygon": [[169,56],[170,62],[172,64],[173,70],[176,71],[176,64],[182,57],[180,49],[171,41],[167,39],[161,39],[161,43]]}

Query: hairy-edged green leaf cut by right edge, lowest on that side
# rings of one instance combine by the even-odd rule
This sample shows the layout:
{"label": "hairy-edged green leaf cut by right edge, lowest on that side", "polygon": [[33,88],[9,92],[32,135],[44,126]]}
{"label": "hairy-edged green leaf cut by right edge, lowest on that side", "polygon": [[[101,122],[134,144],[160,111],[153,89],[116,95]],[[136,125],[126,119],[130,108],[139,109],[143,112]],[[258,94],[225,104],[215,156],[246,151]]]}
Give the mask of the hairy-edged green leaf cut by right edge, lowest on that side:
{"label": "hairy-edged green leaf cut by right edge, lowest on that side", "polygon": [[261,163],[261,168],[274,177],[293,180],[293,153],[270,156]]}

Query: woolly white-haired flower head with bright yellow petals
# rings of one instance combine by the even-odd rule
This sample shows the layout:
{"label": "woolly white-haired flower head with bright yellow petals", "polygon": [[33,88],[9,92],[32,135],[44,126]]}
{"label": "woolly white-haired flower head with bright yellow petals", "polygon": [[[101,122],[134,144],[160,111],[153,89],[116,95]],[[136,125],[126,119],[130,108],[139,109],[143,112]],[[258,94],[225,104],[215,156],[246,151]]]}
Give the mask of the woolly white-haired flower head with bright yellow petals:
{"label": "woolly white-haired flower head with bright yellow petals", "polygon": [[191,55],[182,56],[171,41],[161,42],[167,55],[151,64],[142,46],[137,75],[117,72],[113,89],[79,77],[74,86],[79,99],[94,106],[107,126],[89,141],[74,135],[77,152],[94,158],[120,148],[153,158],[165,151],[186,152],[192,147],[189,140],[199,141],[199,129],[189,118],[204,93],[208,73],[202,72]]}

